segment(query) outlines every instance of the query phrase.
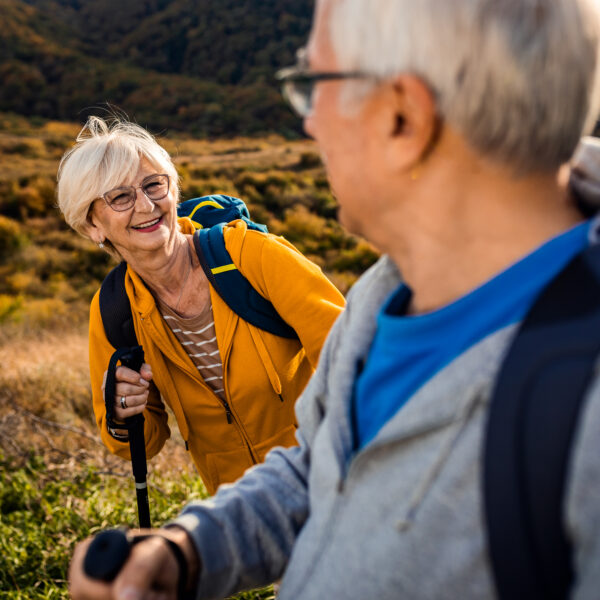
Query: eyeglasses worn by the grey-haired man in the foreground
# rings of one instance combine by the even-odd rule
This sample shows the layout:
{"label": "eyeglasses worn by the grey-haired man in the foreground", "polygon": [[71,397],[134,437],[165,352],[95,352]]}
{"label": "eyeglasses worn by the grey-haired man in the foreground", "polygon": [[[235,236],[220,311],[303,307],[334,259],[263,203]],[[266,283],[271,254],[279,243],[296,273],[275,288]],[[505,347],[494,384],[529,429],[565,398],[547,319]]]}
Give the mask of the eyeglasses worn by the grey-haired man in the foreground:
{"label": "eyeglasses worn by the grey-haired man in the foreground", "polygon": [[377,79],[375,75],[363,71],[310,71],[306,60],[306,50],[297,52],[298,64],[277,71],[275,78],[281,82],[281,93],[298,116],[308,117],[312,112],[312,99],[315,85],[320,81],[344,79]]}

